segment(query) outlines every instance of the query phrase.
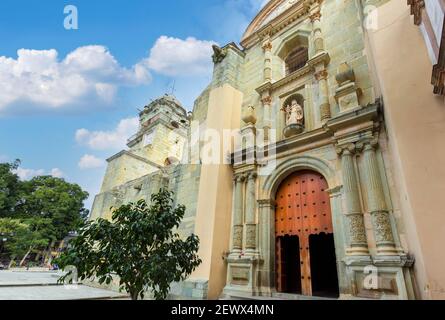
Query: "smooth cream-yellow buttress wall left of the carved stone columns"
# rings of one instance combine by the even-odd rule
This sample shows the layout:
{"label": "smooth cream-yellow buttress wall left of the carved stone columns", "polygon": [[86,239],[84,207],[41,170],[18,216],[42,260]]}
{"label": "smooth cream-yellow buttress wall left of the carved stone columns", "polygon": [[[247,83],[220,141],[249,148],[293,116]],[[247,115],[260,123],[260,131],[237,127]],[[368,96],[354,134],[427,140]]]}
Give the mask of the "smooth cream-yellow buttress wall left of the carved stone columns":
{"label": "smooth cream-yellow buttress wall left of the carved stone columns", "polygon": [[[241,103],[241,92],[228,84],[212,89],[206,127],[217,130],[221,137],[224,129],[238,129]],[[232,189],[230,165],[202,165],[195,234],[201,240],[199,256],[203,263],[192,278],[209,280],[209,299],[217,299],[226,284],[223,254],[229,250]]]}

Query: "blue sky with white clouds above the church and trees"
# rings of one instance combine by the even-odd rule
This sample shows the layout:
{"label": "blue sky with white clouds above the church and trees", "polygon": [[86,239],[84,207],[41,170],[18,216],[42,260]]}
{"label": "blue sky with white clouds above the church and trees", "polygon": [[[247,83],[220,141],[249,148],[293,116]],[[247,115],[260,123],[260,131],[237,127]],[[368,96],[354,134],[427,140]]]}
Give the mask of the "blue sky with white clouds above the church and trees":
{"label": "blue sky with white clouds above the church and trees", "polygon": [[[263,0],[0,1],[0,161],[98,192],[137,108],[171,91],[188,109],[211,45],[238,42]],[[78,30],[64,28],[64,8]]]}

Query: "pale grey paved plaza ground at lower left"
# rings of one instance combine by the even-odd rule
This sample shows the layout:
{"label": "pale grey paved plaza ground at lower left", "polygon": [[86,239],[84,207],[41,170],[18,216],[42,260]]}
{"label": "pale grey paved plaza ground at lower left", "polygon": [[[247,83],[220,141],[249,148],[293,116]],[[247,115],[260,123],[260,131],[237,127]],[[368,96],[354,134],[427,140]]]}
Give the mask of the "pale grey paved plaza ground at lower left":
{"label": "pale grey paved plaza ground at lower left", "polygon": [[124,299],[126,295],[85,285],[57,284],[57,271],[0,271],[0,300]]}

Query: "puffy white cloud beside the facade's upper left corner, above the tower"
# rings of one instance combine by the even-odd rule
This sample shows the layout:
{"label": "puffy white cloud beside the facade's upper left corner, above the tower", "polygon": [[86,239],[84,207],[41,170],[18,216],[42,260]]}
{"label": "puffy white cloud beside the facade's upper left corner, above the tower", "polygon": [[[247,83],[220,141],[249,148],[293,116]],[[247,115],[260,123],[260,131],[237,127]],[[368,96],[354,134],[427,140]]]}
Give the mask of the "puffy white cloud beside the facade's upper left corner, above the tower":
{"label": "puffy white cloud beside the facade's upper left corner, above the tower", "polygon": [[167,76],[206,75],[212,71],[213,41],[161,36],[146,59],[147,66]]}

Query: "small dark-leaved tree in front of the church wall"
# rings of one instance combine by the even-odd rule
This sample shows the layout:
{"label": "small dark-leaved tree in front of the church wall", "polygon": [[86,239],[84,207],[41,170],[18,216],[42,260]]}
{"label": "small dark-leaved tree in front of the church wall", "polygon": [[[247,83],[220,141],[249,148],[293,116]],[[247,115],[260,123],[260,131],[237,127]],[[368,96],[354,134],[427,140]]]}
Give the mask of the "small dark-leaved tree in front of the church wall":
{"label": "small dark-leaved tree in front of the church wall", "polygon": [[75,266],[80,280],[96,277],[109,284],[117,275],[120,289],[133,300],[144,298],[147,288],[155,299],[166,299],[171,283],[185,280],[201,264],[199,238],[182,240],[174,231],[184,214],[184,206],[174,208],[172,193],[161,190],[150,206],[141,200],[116,209],[111,222],[88,222],[57,263]]}

